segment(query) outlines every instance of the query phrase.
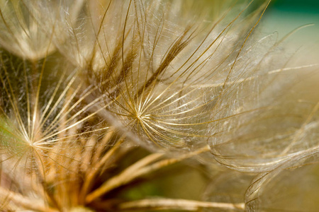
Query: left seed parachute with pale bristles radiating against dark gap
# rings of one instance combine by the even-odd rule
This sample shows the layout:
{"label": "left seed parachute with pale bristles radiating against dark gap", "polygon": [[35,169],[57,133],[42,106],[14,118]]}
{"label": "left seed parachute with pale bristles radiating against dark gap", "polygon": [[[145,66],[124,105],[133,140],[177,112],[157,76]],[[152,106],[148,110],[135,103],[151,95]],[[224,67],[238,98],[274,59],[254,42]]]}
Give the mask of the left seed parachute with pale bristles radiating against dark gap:
{"label": "left seed parachute with pale bristles radiating against dark gap", "polygon": [[[61,66],[53,67],[52,73],[45,72],[47,58],[35,63],[1,52],[0,59],[1,175],[10,179],[4,182],[9,190],[1,192],[6,196],[4,206],[40,211],[54,211],[50,206],[72,207],[72,203],[56,199],[50,184],[67,177],[73,177],[73,183],[79,181],[80,176],[71,173],[77,172],[82,163],[86,164],[81,168],[86,169],[90,161],[82,157],[82,151],[86,153],[84,150],[96,146],[99,140],[79,143],[81,138],[107,131],[108,127],[94,129],[99,122],[94,120],[94,113],[86,114],[90,105],[82,106],[82,95],[89,92],[82,90],[82,83],[75,86],[74,73],[67,76],[63,70],[55,75]],[[32,205],[33,199],[40,201]]]}

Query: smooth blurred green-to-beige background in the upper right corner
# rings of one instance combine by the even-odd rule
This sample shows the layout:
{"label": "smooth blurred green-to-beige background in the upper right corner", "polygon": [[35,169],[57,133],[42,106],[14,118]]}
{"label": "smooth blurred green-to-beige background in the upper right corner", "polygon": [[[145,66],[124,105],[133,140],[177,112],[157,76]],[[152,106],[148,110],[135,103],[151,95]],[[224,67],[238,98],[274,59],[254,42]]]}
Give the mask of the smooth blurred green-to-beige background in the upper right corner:
{"label": "smooth blurred green-to-beige background in the upper right corner", "polygon": [[[310,25],[313,24],[313,25]],[[262,18],[262,32],[278,32],[279,38],[303,25],[306,28],[293,33],[287,43],[298,49],[299,64],[319,64],[319,1],[318,0],[272,0]],[[302,73],[305,76],[298,88],[309,100],[318,100],[319,66],[314,71]]]}

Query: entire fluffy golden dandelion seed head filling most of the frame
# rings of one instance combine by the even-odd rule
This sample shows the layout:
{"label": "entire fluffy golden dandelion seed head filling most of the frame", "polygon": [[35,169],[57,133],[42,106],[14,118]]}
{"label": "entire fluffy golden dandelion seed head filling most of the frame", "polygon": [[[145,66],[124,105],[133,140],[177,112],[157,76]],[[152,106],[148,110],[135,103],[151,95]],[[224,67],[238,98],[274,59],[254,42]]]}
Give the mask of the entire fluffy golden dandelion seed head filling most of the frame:
{"label": "entire fluffy golden dandelion seed head filling most of the frame", "polygon": [[[319,104],[296,102],[291,74],[314,66],[259,34],[270,1],[17,2],[0,0],[1,209],[254,211],[318,162]],[[223,173],[209,201],[128,201],[191,157]]]}

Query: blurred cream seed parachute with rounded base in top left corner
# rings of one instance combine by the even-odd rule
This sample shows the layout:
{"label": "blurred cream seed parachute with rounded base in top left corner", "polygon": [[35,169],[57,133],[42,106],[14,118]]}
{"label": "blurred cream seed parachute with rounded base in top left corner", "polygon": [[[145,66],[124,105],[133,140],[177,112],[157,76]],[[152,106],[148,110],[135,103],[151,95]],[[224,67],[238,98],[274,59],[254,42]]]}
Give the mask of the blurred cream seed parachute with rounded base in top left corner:
{"label": "blurred cream seed parachute with rounded base in top left corner", "polygon": [[[55,51],[52,36],[64,42],[61,7],[75,18],[82,1],[0,1],[0,45],[24,59],[36,61]],[[45,20],[43,23],[42,21]]]}

